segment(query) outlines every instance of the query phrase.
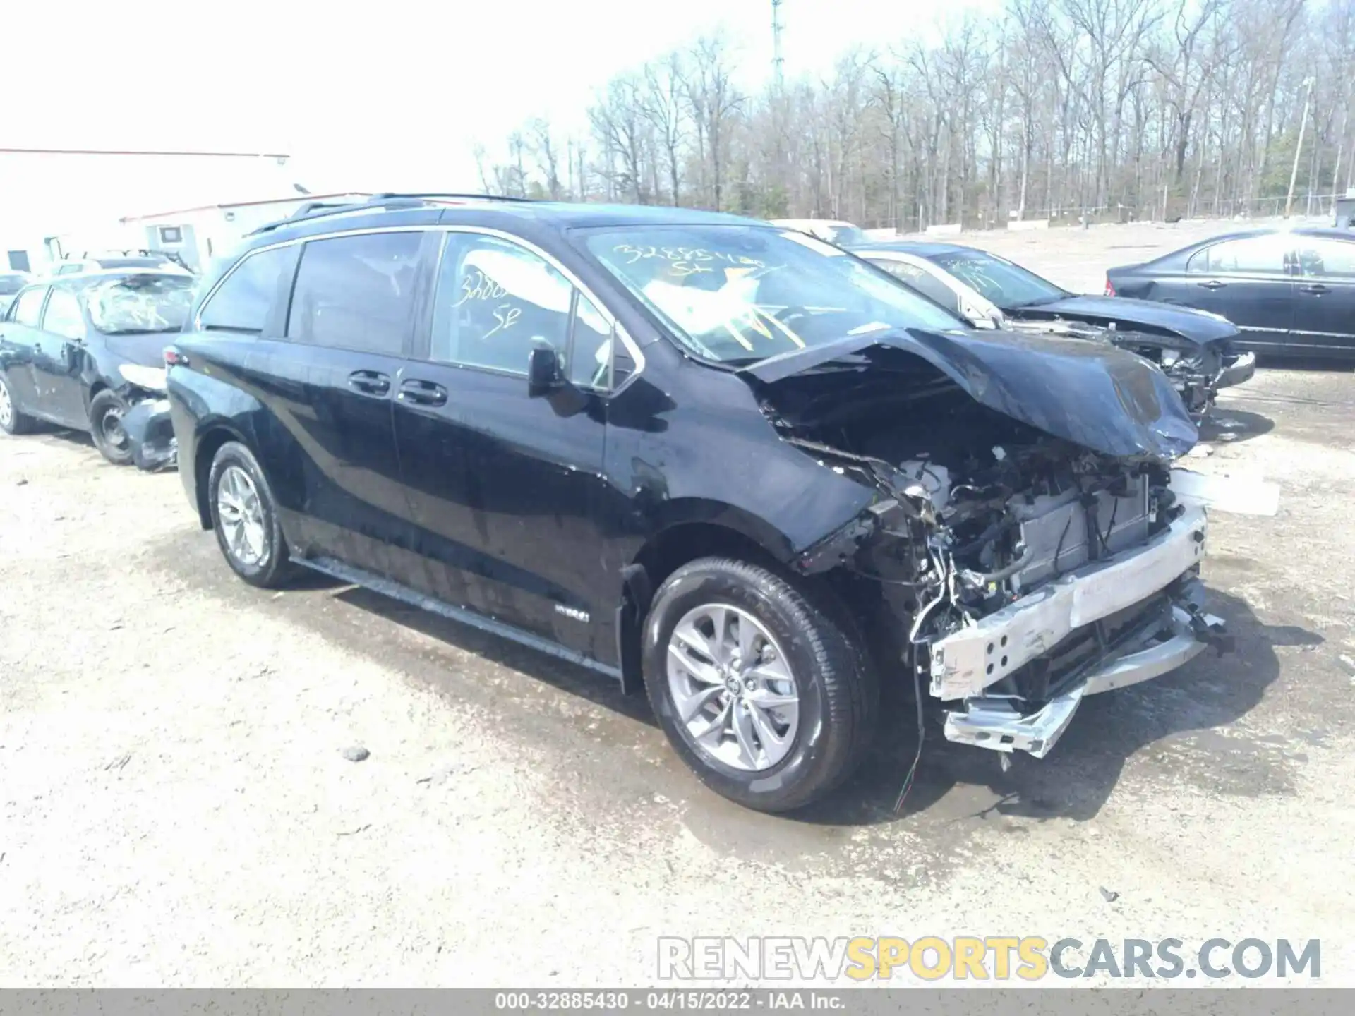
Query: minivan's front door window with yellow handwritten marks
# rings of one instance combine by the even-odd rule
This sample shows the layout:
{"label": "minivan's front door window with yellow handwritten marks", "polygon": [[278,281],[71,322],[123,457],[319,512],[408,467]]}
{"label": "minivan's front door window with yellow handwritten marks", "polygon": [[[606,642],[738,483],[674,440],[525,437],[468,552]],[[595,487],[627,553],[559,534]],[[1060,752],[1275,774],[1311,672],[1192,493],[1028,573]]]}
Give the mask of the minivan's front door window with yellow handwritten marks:
{"label": "minivan's front door window with yellow handwritten marks", "polygon": [[[575,289],[541,256],[497,237],[449,233],[438,271],[430,356],[440,363],[527,373],[537,343],[556,347],[565,371]],[[591,305],[589,305],[591,308]],[[596,309],[592,310],[596,316]],[[580,324],[583,345],[593,354],[600,316]],[[593,359],[584,352],[585,358]],[[593,359],[593,367],[596,360]],[[580,371],[591,374],[583,363]]]}

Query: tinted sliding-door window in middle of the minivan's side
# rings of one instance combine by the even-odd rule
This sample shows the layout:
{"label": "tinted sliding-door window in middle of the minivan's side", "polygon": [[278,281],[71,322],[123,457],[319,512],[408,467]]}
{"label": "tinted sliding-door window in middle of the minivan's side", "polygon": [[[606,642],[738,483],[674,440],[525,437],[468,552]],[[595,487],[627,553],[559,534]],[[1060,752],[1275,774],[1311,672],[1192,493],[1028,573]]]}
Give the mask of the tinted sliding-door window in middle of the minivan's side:
{"label": "tinted sliding-door window in middle of the minivan's side", "polygon": [[287,314],[295,343],[404,352],[423,233],[358,233],[313,240],[301,252]]}

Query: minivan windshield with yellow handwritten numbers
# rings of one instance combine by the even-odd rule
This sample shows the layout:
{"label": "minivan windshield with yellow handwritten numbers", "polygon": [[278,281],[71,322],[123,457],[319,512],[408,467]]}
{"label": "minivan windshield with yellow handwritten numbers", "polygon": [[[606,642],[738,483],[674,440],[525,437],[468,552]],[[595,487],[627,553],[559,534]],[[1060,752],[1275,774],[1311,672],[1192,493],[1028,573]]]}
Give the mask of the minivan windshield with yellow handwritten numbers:
{"label": "minivan windshield with yellow handwritten numbers", "polygon": [[804,233],[633,226],[588,249],[699,356],[747,364],[897,328],[965,322],[864,261]]}

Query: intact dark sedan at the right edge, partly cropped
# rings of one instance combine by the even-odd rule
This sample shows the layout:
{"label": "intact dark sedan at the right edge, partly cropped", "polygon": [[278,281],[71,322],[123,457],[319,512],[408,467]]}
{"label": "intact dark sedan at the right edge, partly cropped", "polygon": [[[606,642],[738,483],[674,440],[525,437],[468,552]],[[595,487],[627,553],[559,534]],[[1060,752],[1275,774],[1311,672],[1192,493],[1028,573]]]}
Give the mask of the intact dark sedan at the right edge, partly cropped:
{"label": "intact dark sedan at the right edge, partly cropped", "polygon": [[1355,358],[1355,234],[1264,229],[1111,268],[1106,293],[1224,314],[1241,348]]}

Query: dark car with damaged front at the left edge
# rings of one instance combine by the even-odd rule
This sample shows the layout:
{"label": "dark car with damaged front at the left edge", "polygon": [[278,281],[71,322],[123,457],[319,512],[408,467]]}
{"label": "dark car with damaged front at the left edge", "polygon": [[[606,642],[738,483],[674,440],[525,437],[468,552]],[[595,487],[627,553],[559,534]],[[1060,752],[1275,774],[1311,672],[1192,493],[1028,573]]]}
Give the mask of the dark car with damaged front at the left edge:
{"label": "dark car with damaged front at the left edge", "polygon": [[87,272],[23,289],[0,321],[0,429],[38,421],[88,431],[133,461],[123,419],[165,387],[164,347],[192,303],[184,272]]}

